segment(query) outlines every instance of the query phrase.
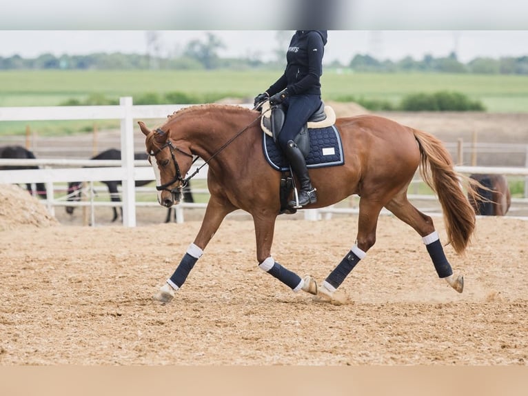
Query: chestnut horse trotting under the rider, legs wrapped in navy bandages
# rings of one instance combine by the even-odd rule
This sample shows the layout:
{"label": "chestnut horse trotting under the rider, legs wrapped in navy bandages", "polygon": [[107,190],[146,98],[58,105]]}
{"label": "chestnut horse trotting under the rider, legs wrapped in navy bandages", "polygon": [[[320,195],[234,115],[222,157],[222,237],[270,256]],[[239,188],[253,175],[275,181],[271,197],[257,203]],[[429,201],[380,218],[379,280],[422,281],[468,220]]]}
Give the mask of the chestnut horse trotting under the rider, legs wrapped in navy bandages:
{"label": "chestnut horse trotting under the rider, legs wrapped in navy bandages", "polygon": [[[456,254],[463,254],[471,242],[476,215],[460,184],[463,175],[454,170],[449,152],[439,139],[376,115],[336,119],[345,161],[338,166],[309,169],[318,199],[303,209],[323,208],[358,195],[358,230],[352,248],[318,284],[310,275],[301,278],[288,270],[270,253],[276,217],[281,213],[281,172],[272,168],[263,155],[263,130],[258,123],[261,117],[261,112],[254,109],[206,104],[174,112],[155,129],[138,121],[162,206],[170,208],[179,203],[179,190],[194,176],[183,179],[182,175],[187,174],[195,156],[208,165],[210,199],[201,227],[172,276],[154,294],[154,300],[167,304],[174,298],[225,216],[237,209],[252,216],[257,266],[294,292],[303,290],[318,301],[345,304],[338,287],[374,246],[382,208],[418,232],[438,277],[458,293],[463,292],[464,278],[454,275],[433,220],[407,199],[407,188],[419,168],[421,177],[438,195],[448,242]],[[298,183],[296,177],[294,181]]]}

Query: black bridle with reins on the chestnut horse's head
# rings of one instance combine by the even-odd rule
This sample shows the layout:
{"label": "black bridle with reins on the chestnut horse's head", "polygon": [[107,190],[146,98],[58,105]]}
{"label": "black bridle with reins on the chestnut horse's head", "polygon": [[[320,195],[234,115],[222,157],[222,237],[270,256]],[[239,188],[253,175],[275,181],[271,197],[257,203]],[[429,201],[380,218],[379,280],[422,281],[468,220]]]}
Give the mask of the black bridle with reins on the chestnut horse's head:
{"label": "black bridle with reins on the chestnut horse's head", "polygon": [[[258,106],[255,106],[253,108],[253,110],[255,110],[256,108],[258,108]],[[269,111],[270,109],[266,110],[266,111]],[[176,146],[174,146],[174,144],[172,144],[172,141],[170,141],[169,138],[167,138],[167,143],[165,143],[163,146],[161,146],[158,150],[156,150],[156,152],[153,152],[151,151],[149,153],[149,156],[156,156],[159,152],[161,152],[162,150],[164,150],[165,148],[169,148],[170,150],[170,155],[172,157],[172,163],[174,164],[174,169],[176,169],[176,175],[174,175],[174,177],[170,180],[170,181],[167,181],[167,183],[165,184],[162,184],[161,186],[156,186],[156,190],[158,191],[168,191],[170,192],[172,195],[176,195],[176,194],[179,194],[181,188],[184,188],[185,186],[187,186],[187,184],[189,183],[190,179],[192,179],[194,176],[196,176],[196,174],[201,170],[201,168],[203,168],[204,166],[206,166],[209,161],[211,161],[214,157],[216,157],[216,155],[219,155],[219,153],[224,149],[226,148],[227,146],[230,145],[230,143],[232,143],[232,141],[234,141],[234,139],[236,139],[237,137],[239,137],[240,135],[242,135],[242,133],[247,130],[247,128],[250,128],[250,126],[253,125],[253,123],[260,119],[262,116],[264,115],[264,112],[261,112],[260,115],[258,115],[258,117],[256,117],[256,119],[254,119],[253,121],[251,121],[250,123],[247,124],[247,126],[245,126],[245,128],[243,128],[241,131],[239,131],[236,135],[234,135],[234,137],[232,137],[231,139],[229,139],[228,141],[226,141],[223,146],[221,148],[219,148],[218,150],[216,150],[216,152],[214,152],[214,154],[209,158],[207,159],[207,161],[204,162],[204,164],[202,164],[201,166],[199,166],[199,168],[197,168],[193,173],[192,175],[190,175],[189,177],[186,177],[185,179],[183,179],[183,177],[181,177],[181,171],[180,171],[180,167],[178,165],[178,161],[176,161],[176,157],[174,156],[174,152],[177,151],[177,152],[181,152],[181,154],[187,156],[187,157],[191,157],[191,158],[194,158],[194,156],[188,152],[185,152],[183,150],[181,150],[181,148],[177,148]],[[157,128],[154,132],[156,133],[159,133],[160,135],[164,135],[165,132],[163,132],[163,130],[161,130],[161,128]],[[199,157],[196,157],[193,159],[192,161],[192,164],[194,164],[197,160],[199,159]],[[191,164],[191,166],[192,166]],[[176,181],[179,181],[180,184],[178,187],[176,188],[172,188],[172,190],[170,190],[168,187],[171,186],[172,184],[176,183]]]}

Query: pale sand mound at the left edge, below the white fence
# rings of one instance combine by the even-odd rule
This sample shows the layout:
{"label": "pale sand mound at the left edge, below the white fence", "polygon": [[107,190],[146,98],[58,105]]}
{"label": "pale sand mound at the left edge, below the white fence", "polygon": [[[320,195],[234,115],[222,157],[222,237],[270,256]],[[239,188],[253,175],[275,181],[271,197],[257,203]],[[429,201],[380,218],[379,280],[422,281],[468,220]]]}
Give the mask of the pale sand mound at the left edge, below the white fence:
{"label": "pale sand mound at the left edge, below the white fence", "polygon": [[28,191],[11,184],[0,184],[0,231],[17,226],[57,226],[59,221]]}

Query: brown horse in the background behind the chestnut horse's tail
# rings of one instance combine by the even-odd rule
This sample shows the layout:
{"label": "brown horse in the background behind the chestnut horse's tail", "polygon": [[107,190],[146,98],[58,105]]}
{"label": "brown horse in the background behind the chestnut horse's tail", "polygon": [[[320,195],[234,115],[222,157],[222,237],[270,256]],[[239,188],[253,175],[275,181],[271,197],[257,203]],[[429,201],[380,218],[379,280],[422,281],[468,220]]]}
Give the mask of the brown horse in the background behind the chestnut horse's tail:
{"label": "brown horse in the background behind the chestnut horse's tail", "polygon": [[504,216],[511,206],[511,192],[504,175],[473,174],[470,179],[478,181],[482,186],[473,186],[483,199],[475,200],[468,193],[469,204],[477,215]]}

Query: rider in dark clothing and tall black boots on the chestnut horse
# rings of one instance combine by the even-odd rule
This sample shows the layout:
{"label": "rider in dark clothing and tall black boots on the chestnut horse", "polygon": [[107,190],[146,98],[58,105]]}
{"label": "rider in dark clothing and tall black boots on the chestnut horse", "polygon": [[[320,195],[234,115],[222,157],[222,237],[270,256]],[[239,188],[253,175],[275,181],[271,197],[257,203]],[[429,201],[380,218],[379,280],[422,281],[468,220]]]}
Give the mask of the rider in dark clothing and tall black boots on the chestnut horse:
{"label": "rider in dark clothing and tall black boots on the chestnut horse", "polygon": [[[327,43],[327,30],[297,30],[286,53],[284,74],[270,88],[255,97],[254,106],[270,98],[270,104],[283,103],[285,121],[278,143],[292,170],[301,183],[298,206],[314,204],[316,189],[312,187],[303,153],[294,138],[309,117],[321,106],[323,54]],[[290,206],[296,206],[290,201]]]}

